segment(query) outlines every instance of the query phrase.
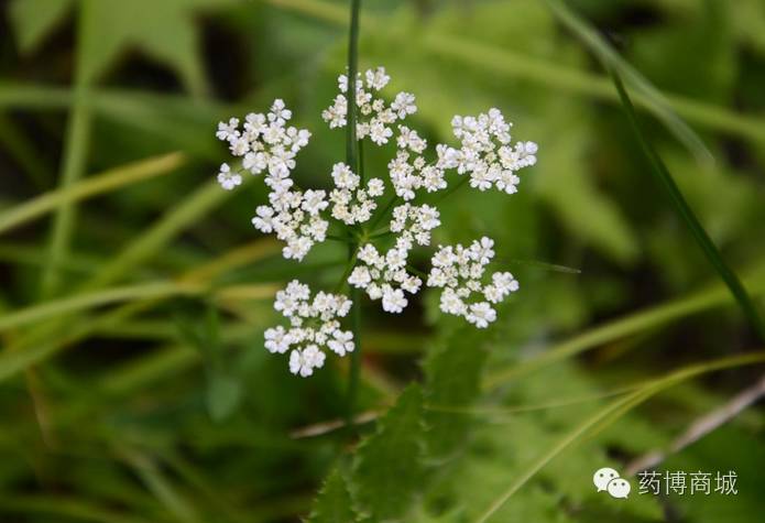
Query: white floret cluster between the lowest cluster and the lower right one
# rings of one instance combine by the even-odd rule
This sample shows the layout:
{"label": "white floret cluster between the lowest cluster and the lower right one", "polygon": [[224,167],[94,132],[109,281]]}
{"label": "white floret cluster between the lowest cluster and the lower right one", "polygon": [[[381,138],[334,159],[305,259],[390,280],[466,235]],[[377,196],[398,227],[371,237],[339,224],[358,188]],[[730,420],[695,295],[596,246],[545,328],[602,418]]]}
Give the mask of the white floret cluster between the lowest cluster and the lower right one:
{"label": "white floret cluster between the lowest cluster and the lower right one", "polygon": [[406,271],[408,251],[393,248],[384,255],[372,243],[363,246],[358,253],[363,264],[357,265],[348,276],[348,283],[367,291],[370,299],[381,299],[386,313],[398,314],[406,308],[408,299],[404,291],[417,294],[423,281]]}

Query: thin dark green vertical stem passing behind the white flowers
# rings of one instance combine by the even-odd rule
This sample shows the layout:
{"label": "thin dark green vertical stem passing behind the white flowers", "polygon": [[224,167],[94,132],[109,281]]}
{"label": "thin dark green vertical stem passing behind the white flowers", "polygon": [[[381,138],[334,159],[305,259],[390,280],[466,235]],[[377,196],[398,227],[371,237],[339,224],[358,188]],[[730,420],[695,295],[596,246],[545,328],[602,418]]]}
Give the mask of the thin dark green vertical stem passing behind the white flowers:
{"label": "thin dark green vertical stem passing behind the white flowers", "polygon": [[[348,37],[348,133],[346,135],[346,163],[363,181],[363,163],[359,162],[360,148],[356,135],[356,122],[358,108],[356,103],[356,83],[359,69],[359,12],[361,11],[361,0],[351,0],[350,32]],[[352,270],[356,264],[356,255],[359,250],[358,241],[348,246],[348,266]],[[348,270],[346,270],[348,272]],[[347,275],[340,284],[345,284]],[[361,293],[358,288],[351,288],[351,330],[356,350],[351,352],[350,372],[348,375],[348,396],[346,405],[346,422],[349,429],[353,427],[353,414],[356,411],[356,396],[359,390],[359,373],[361,367],[361,308],[359,298]]]}

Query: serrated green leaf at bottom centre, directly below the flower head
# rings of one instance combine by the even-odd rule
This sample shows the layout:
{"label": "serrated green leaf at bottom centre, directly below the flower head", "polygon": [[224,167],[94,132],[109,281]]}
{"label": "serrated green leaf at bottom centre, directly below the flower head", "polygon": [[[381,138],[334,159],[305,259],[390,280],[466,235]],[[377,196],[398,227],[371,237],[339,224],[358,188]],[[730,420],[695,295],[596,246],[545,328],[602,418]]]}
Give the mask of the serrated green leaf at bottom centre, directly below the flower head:
{"label": "serrated green leaf at bottom centre, directly below the flower head", "polygon": [[372,521],[403,516],[423,483],[422,416],[423,393],[409,385],[358,450],[356,497]]}

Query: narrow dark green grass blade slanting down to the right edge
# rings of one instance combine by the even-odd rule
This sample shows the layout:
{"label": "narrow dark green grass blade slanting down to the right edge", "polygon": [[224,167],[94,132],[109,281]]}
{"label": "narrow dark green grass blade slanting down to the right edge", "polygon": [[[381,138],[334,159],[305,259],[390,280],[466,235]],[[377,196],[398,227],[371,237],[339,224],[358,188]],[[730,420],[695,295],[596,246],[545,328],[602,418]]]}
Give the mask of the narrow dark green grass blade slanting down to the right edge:
{"label": "narrow dark green grass blade slanting down to the right edge", "polygon": [[680,219],[686,224],[686,226],[690,230],[691,236],[707,257],[707,260],[718,272],[720,279],[723,282],[725,282],[725,285],[728,285],[728,288],[731,291],[731,294],[733,294],[736,302],[739,302],[741,310],[748,319],[750,324],[752,325],[752,328],[754,328],[754,331],[756,333],[759,340],[765,341],[765,323],[763,323],[762,317],[757,313],[754,302],[746,292],[746,288],[744,288],[744,285],[739,280],[739,276],[736,276],[736,274],[724,262],[722,255],[720,254],[720,251],[718,251],[717,247],[714,247],[714,243],[709,238],[709,235],[707,235],[707,231],[699,222],[698,218],[693,214],[693,210],[690,208],[690,206],[686,203],[686,199],[682,197],[682,193],[675,183],[675,179],[669,173],[669,170],[667,170],[667,166],[664,164],[664,161],[651,145],[648,140],[645,138],[643,131],[641,131],[641,127],[637,123],[637,117],[635,116],[635,109],[632,106],[630,95],[627,95],[626,90],[624,89],[624,85],[622,84],[622,79],[620,78],[619,74],[615,70],[611,70],[611,77],[613,78],[613,83],[616,86],[619,97],[622,100],[622,106],[624,107],[624,111],[626,113],[627,120],[630,121],[630,126],[632,127],[635,138],[637,138],[637,141],[640,142],[641,148],[643,149],[643,152],[645,153],[646,157],[648,159],[648,163],[652,166],[652,174],[656,177],[656,179],[666,190],[667,196],[673,203],[675,213],[677,213]]}

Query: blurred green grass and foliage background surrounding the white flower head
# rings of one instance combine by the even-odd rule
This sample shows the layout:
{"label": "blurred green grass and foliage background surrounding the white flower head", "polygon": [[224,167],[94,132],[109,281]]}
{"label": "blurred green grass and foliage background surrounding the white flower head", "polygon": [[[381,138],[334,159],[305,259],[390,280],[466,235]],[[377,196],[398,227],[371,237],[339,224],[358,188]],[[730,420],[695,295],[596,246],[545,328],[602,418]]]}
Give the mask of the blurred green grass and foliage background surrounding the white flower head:
{"label": "blurred green grass and foliage background surrounding the white flower head", "polygon": [[[358,434],[332,429],[341,363],[299,380],[263,349],[273,290],[332,287],[346,252],[278,258],[249,224],[262,185],[211,181],[226,157],[215,124],[284,98],[314,133],[296,176],[326,186],[345,141],[319,113],[345,67],[347,3],[0,7],[0,521],[474,522],[515,486],[490,521],[759,521],[756,408],[660,466],[736,470],[736,497],[592,488],[592,471],[666,448],[762,370],[753,358],[642,389],[758,347],[728,293],[708,291],[714,273],[649,176],[602,48],[548,2],[363,2],[360,65],[417,96],[429,140],[449,140],[452,115],[499,107],[540,144],[517,195],[465,190],[441,208],[436,242],[491,236],[521,281],[500,322],[465,329],[427,294],[403,317],[364,304]],[[711,153],[633,91],[762,308],[765,3],[566,4]],[[390,149],[365,153],[384,174]]]}

